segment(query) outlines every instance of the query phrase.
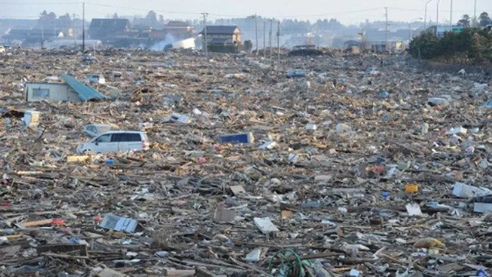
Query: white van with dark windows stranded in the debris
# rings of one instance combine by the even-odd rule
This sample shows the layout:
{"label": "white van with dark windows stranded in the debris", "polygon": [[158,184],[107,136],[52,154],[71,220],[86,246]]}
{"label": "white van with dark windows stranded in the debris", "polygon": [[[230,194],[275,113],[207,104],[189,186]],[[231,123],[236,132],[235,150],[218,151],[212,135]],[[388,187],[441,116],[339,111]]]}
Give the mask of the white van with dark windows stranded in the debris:
{"label": "white van with dark windows stranded in the debris", "polygon": [[109,131],[77,146],[80,154],[106,154],[149,150],[149,138],[141,131]]}

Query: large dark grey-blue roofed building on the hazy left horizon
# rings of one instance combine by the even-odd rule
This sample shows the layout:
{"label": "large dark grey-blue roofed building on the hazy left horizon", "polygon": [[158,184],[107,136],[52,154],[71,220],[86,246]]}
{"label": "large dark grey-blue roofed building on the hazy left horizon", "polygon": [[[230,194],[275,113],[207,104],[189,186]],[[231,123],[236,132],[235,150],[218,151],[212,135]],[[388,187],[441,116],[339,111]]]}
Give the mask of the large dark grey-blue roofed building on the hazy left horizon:
{"label": "large dark grey-blue roofed building on the hazy left horizon", "polygon": [[123,36],[131,30],[130,20],[123,18],[94,18],[87,32],[91,40]]}

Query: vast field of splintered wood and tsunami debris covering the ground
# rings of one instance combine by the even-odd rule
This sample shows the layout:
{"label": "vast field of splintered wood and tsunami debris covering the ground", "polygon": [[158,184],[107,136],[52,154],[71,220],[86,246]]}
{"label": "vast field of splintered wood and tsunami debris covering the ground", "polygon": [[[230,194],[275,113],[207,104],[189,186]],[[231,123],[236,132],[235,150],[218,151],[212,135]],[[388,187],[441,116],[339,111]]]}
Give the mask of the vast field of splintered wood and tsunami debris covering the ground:
{"label": "vast field of splintered wood and tsunami debris covering the ground", "polygon": [[[0,272],[486,276],[490,80],[403,56],[2,57]],[[107,100],[26,102],[61,73]],[[150,149],[77,153],[87,124]]]}

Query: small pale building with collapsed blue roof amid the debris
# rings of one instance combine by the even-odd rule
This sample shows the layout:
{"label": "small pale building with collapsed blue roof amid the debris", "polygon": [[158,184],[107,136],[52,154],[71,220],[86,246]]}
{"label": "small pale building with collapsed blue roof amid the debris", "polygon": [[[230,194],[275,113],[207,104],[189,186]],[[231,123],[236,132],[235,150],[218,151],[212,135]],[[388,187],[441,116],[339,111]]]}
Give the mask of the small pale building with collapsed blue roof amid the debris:
{"label": "small pale building with collapsed blue roof amid the debris", "polygon": [[90,86],[77,81],[72,76],[61,75],[65,83],[29,82],[25,84],[27,102],[70,101],[82,102],[106,98]]}

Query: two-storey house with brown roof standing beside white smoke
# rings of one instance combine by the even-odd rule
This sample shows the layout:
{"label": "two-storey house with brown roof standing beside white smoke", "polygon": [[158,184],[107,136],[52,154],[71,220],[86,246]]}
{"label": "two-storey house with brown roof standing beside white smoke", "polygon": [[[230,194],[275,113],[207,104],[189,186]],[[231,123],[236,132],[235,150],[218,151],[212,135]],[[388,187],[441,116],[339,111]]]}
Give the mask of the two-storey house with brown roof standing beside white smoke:
{"label": "two-storey house with brown roof standing beside white smoke", "polygon": [[241,49],[241,30],[238,26],[210,25],[200,32],[207,39],[207,48],[210,52],[234,53]]}

